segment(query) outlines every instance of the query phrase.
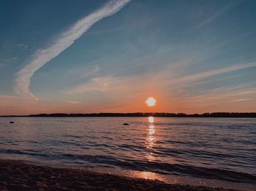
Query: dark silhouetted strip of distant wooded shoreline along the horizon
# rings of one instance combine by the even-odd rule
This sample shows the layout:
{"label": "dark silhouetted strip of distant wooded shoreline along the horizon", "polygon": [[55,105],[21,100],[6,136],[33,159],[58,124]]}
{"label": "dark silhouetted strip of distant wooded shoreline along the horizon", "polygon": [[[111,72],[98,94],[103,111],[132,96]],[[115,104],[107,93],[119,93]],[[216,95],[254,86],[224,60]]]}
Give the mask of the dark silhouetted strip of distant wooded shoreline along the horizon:
{"label": "dark silhouetted strip of distant wooded shoreline along the horizon", "polygon": [[214,112],[204,114],[164,113],[164,112],[136,112],[136,113],[89,113],[89,114],[29,114],[29,115],[1,115],[0,117],[244,117],[256,118],[256,112]]}

